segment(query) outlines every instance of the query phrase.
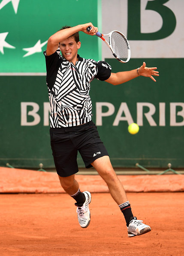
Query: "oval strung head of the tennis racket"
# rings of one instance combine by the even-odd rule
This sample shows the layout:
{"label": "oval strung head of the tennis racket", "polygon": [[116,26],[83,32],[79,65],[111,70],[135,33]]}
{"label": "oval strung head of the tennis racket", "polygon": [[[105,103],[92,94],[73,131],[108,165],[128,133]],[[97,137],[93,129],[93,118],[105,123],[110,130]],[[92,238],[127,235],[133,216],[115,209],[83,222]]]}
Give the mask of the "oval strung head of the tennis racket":
{"label": "oval strung head of the tennis racket", "polygon": [[111,34],[110,44],[115,55],[122,61],[127,61],[129,57],[130,46],[127,43],[126,38],[124,38],[124,36],[120,32],[114,31]]}

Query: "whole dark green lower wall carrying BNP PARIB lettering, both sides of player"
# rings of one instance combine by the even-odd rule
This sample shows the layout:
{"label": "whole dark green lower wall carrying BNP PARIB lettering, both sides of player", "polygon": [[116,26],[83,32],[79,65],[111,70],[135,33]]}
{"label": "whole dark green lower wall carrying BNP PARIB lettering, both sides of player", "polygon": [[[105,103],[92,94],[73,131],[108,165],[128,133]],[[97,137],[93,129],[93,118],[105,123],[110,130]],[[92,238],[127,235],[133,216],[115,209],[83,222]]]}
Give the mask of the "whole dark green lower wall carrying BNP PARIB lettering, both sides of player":
{"label": "whole dark green lower wall carrying BNP PARIB lettering, both sides of player", "polygon": [[[145,61],[147,66],[157,64],[160,77],[156,83],[150,78],[143,77],[117,86],[96,79],[91,83],[93,121],[98,126],[100,137],[109,151],[114,166],[134,167],[136,162],[139,162],[148,167],[165,167],[168,162],[172,162],[175,167],[183,167],[184,109],[181,103],[184,94],[184,75],[178,69],[183,59],[175,59],[178,66],[172,67],[169,76],[165,74],[173,59]],[[107,62],[112,65],[113,72],[122,69],[122,64],[115,59],[107,59]],[[131,59],[129,64],[123,65],[123,69],[133,69],[141,62],[142,59]],[[45,168],[54,167],[50,149],[49,103],[45,76],[1,76],[0,84],[3,84],[0,98],[0,165],[9,162],[13,166],[36,168],[42,162]],[[103,105],[101,112],[96,109],[99,103]],[[115,110],[112,115],[104,116],[104,113],[109,111],[107,103],[113,105]],[[122,103],[126,103],[128,110],[120,109]],[[137,112],[137,104],[140,103],[154,106],[155,113],[151,115],[154,121],[145,116],[150,107],[144,106],[142,113],[140,109]],[[163,108],[160,110],[160,103],[165,103],[165,111]],[[171,111],[172,103],[179,105],[172,105]],[[175,116],[171,117],[173,109]],[[115,124],[118,111],[119,118]],[[137,120],[137,116],[141,115],[142,119]],[[142,121],[138,134],[131,135],[127,131],[130,116],[133,122]],[[121,120],[121,117],[124,117],[124,120]],[[33,123],[35,120],[37,124]],[[78,162],[79,166],[84,166],[80,156]]]}

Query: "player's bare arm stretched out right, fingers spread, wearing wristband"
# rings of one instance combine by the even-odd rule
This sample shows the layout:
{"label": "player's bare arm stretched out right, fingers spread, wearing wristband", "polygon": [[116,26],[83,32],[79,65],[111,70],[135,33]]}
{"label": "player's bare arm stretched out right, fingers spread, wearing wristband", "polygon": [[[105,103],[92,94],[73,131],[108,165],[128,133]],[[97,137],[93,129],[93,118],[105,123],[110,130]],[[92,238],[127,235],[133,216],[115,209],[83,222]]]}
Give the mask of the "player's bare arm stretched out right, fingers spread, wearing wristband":
{"label": "player's bare arm stretched out right, fingers spread, wearing wristband", "polygon": [[106,82],[117,85],[117,84],[123,84],[127,81],[132,80],[133,78],[136,78],[138,76],[145,76],[150,77],[153,81],[156,82],[153,75],[159,76],[159,72],[155,71],[157,69],[154,68],[147,68],[146,63],[143,62],[142,66],[138,69],[133,69],[130,71],[123,71],[118,73],[111,73],[111,76],[106,80]]}

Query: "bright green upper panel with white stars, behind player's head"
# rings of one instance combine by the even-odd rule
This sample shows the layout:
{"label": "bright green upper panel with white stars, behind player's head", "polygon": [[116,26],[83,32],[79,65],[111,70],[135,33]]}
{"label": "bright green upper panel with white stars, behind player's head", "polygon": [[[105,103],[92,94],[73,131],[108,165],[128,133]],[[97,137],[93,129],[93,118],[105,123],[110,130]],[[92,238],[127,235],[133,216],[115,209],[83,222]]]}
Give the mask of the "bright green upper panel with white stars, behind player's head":
{"label": "bright green upper panel with white stars, behind player's head", "polygon": [[[8,33],[4,38],[5,47],[0,48],[0,72],[45,72],[42,52],[52,34],[65,25],[97,24],[98,1],[90,3],[89,0],[20,0],[17,12],[11,1],[3,7],[0,5],[0,38],[4,38],[1,33]],[[89,4],[90,8],[86,8]],[[91,41],[87,34],[80,32],[80,40],[79,54],[98,59],[98,38]],[[94,45],[97,46],[95,52]],[[30,53],[34,54],[27,55]]]}

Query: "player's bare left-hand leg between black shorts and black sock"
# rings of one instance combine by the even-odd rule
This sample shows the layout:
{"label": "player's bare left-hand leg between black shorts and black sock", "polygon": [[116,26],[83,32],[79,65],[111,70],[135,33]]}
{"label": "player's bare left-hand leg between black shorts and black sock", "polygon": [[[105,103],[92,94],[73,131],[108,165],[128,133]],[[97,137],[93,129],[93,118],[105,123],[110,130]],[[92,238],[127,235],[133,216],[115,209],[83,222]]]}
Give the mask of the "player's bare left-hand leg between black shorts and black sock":
{"label": "player's bare left-hand leg between black shorts and black sock", "polygon": [[[59,175],[58,175],[59,176]],[[75,174],[69,176],[69,177],[60,177],[60,184],[63,187],[63,189],[66,191],[69,195],[74,195],[77,193],[79,185],[78,182],[75,180]]]}

